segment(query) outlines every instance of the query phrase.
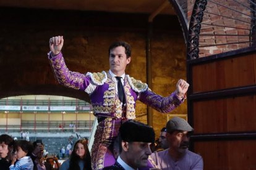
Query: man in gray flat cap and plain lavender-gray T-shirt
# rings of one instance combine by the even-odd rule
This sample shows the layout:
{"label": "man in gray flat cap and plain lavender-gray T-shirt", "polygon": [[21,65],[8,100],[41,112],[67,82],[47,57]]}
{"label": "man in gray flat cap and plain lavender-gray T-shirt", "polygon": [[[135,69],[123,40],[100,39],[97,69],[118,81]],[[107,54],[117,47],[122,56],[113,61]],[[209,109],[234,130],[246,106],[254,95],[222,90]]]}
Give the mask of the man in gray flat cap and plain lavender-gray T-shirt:
{"label": "man in gray flat cap and plain lavender-gray T-shirt", "polygon": [[202,156],[188,150],[190,135],[193,131],[194,129],[185,119],[179,117],[170,119],[166,124],[166,139],[169,148],[150,155],[156,166],[162,170],[203,169]]}

